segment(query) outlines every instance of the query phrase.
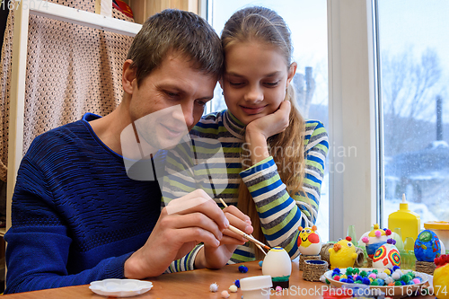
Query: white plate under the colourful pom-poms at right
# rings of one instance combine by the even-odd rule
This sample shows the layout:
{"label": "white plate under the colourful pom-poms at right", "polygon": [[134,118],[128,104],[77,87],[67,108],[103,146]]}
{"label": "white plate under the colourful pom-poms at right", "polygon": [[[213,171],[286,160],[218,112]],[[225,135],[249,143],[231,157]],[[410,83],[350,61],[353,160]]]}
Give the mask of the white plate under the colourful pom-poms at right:
{"label": "white plate under the colourful pom-poms at right", "polygon": [[[360,271],[365,270],[366,272],[368,272],[368,271],[372,271],[374,268],[358,268],[358,269]],[[381,271],[383,269],[378,268],[377,270]],[[412,270],[406,270],[406,269],[402,270],[401,269],[401,271],[403,273],[408,273],[409,271],[412,271]],[[340,268],[340,272],[346,273],[346,268]],[[372,289],[381,290],[383,293],[385,293],[385,297],[386,296],[397,297],[397,298],[407,297],[409,295],[412,295],[414,292],[418,291],[420,288],[422,288],[422,286],[424,284],[427,283],[427,274],[426,273],[416,272],[416,271],[412,271],[412,272],[415,273],[415,276],[420,277],[422,279],[422,282],[420,284],[409,285],[409,286],[369,286],[369,287]],[[341,287],[343,285],[348,285],[347,283],[343,283],[338,280],[332,279],[332,270],[324,273],[324,277],[326,277],[330,281],[330,285],[332,285],[332,286]],[[418,291],[418,293],[420,294],[421,292]]]}

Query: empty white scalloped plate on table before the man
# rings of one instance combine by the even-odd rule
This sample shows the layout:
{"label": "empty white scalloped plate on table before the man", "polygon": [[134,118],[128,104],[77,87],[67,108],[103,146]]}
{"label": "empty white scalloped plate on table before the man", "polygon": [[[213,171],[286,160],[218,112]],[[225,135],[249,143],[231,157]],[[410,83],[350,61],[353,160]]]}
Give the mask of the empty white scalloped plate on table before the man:
{"label": "empty white scalloped plate on table before the man", "polygon": [[150,281],[115,278],[92,281],[89,286],[95,294],[113,297],[141,295],[151,290],[152,287],[153,283]]}

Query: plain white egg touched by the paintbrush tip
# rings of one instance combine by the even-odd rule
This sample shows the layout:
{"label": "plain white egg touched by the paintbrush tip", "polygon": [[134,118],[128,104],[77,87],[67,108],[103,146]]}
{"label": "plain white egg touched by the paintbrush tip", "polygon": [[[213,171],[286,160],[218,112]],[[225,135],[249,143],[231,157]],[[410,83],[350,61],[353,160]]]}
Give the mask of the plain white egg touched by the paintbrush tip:
{"label": "plain white egg touched by the paintbrush tip", "polygon": [[281,247],[273,247],[263,259],[262,274],[289,277],[292,274],[292,261],[288,253]]}

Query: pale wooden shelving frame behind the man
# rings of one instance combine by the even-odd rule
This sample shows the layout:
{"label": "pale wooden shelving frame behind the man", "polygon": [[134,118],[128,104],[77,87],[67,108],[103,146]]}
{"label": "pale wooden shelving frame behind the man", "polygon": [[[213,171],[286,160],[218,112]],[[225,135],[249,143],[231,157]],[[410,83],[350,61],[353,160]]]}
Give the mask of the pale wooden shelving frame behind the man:
{"label": "pale wooden shelving frame behind the man", "polygon": [[[112,0],[96,0],[110,1]],[[1,2],[1,1],[0,1]],[[131,2],[131,3],[129,3]],[[202,3],[202,4],[201,4]],[[198,13],[198,7],[206,7],[202,0],[128,0],[135,13],[135,22],[126,22],[97,13],[89,13],[60,4],[48,3],[46,7],[21,7],[14,10],[13,58],[11,74],[10,120],[9,120],[9,151],[8,176],[6,186],[6,227],[0,228],[0,260],[4,263],[4,233],[11,226],[11,205],[17,171],[22,160],[23,121],[25,109],[25,76],[27,64],[27,42],[30,14],[40,15],[49,19],[71,22],[102,31],[111,31],[128,36],[135,36],[142,28],[146,18],[166,8],[178,8]],[[30,7],[31,6],[31,7]],[[203,9],[204,11],[204,9]]]}

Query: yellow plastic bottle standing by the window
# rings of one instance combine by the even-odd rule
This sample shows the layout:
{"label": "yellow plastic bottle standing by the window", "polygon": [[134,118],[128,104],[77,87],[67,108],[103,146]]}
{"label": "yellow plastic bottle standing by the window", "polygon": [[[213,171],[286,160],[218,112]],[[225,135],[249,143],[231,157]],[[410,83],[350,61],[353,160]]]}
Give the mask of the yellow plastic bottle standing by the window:
{"label": "yellow plastic bottle standing by the window", "polygon": [[394,232],[395,228],[401,228],[402,242],[407,237],[417,240],[421,229],[421,218],[418,214],[409,210],[409,204],[405,200],[405,194],[402,194],[402,202],[399,210],[388,216],[388,228]]}

